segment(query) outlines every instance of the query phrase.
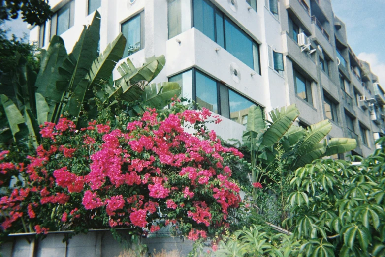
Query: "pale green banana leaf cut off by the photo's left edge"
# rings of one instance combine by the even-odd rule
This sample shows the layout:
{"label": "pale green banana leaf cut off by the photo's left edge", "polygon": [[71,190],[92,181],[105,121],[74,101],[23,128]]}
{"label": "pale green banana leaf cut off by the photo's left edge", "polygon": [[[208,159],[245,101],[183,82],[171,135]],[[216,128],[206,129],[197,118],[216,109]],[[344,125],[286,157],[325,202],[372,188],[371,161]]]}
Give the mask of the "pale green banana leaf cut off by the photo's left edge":
{"label": "pale green banana leaf cut off by the photo's left edge", "polygon": [[24,125],[24,117],[12,100],[10,100],[7,96],[0,95],[0,100],[8,120],[9,128],[11,129],[13,138],[16,141],[16,134],[20,132],[19,125]]}

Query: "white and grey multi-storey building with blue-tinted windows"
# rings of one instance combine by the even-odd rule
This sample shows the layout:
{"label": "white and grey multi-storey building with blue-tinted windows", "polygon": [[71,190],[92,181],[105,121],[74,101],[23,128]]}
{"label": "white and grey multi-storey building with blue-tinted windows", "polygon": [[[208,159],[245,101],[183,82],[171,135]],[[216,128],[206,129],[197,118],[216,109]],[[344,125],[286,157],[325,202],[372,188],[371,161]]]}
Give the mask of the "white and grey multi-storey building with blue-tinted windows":
{"label": "white and grey multi-storey building with blue-tinted windows", "polygon": [[[384,90],[350,48],[330,0],[51,0],[50,21],[31,27],[47,47],[60,35],[73,48],[93,12],[101,14],[103,50],[120,32],[135,66],[165,55],[154,82],[176,81],[184,97],[222,115],[211,125],[241,139],[247,110],[296,104],[299,125],[324,119],[330,137],[357,139],[367,156],[385,135]],[[122,60],[123,61],[123,60]],[[118,76],[118,73],[114,74]],[[342,156],[340,156],[342,157]]]}

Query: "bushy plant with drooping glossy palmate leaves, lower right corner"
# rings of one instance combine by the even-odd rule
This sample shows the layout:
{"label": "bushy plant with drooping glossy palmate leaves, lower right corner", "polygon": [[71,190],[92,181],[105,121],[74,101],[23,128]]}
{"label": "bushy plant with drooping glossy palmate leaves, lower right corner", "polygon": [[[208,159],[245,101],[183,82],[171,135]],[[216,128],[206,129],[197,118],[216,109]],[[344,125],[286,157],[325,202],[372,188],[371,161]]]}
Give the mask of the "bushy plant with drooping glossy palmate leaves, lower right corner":
{"label": "bushy plant with drooping glossy palmate leaves, lower right corner", "polygon": [[285,224],[308,240],[301,247],[306,256],[321,243],[328,244],[323,256],[385,256],[385,148],[353,161],[359,164],[321,159],[291,180]]}

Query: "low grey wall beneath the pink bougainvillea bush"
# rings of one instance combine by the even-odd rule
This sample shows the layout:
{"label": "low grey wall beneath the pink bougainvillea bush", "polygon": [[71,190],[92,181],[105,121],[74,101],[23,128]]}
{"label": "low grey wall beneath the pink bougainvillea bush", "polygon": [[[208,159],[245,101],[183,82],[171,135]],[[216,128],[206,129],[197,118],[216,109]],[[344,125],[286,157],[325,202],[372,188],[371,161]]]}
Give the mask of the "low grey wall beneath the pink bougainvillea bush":
{"label": "low grey wall beneath the pink bougainvillea bush", "polygon": [[[124,233],[124,232],[122,232]],[[172,251],[177,249],[187,255],[193,249],[193,242],[169,236],[143,238],[149,252],[154,249]],[[43,240],[35,240],[34,235],[17,235],[2,245],[3,257],[115,257],[123,251],[122,246],[112,237],[110,231],[92,231],[79,234],[63,243],[64,234],[49,233]]]}

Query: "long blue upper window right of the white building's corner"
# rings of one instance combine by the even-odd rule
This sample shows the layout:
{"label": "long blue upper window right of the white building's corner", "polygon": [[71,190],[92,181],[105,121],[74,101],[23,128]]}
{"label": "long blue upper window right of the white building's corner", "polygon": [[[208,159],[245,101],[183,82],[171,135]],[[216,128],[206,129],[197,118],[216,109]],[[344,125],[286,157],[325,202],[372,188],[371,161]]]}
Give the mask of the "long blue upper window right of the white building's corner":
{"label": "long blue upper window right of the white building's corner", "polygon": [[260,74],[259,44],[207,0],[194,0],[194,27]]}

